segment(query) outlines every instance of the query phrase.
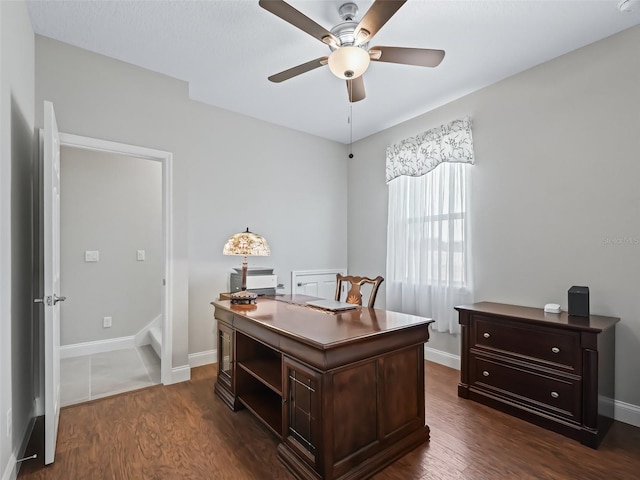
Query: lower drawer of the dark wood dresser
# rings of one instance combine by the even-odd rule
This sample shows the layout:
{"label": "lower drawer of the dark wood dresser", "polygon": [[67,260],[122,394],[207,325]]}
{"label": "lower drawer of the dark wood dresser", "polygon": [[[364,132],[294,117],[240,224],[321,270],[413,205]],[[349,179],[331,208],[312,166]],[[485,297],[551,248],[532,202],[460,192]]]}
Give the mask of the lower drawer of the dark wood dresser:
{"label": "lower drawer of the dark wood dresser", "polygon": [[582,382],[471,355],[470,385],[518,405],[580,423]]}

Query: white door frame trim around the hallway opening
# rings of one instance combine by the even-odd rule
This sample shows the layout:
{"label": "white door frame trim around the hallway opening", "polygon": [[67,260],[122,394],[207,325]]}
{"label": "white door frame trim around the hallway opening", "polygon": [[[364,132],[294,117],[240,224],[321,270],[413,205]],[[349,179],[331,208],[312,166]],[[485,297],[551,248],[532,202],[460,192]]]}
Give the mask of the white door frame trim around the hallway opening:
{"label": "white door frame trim around the hallway opening", "polygon": [[162,347],[160,358],[160,381],[164,385],[173,383],[173,153],[126,143],[111,142],[97,138],[60,132],[60,145],[85,150],[127,155],[154,160],[162,164],[162,236],[163,236],[163,281],[162,294]]}

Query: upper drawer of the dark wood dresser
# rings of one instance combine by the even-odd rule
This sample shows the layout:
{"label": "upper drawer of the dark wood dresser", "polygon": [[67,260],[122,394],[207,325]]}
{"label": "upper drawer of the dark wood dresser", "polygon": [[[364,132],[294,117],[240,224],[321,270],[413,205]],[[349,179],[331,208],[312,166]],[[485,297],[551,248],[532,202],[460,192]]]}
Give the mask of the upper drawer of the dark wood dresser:
{"label": "upper drawer of the dark wood dresser", "polygon": [[577,331],[474,315],[471,340],[472,348],[523,356],[578,375],[582,371],[580,332]]}

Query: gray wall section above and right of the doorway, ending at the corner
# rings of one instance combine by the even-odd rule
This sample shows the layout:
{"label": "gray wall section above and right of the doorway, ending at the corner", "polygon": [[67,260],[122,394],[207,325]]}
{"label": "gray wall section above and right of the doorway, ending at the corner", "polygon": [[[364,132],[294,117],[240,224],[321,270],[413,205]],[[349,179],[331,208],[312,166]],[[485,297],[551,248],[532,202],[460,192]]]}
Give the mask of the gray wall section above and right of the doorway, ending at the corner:
{"label": "gray wall section above and right of the doorway, ending at the corner", "polygon": [[[43,47],[43,44],[45,47]],[[36,36],[35,105],[51,100],[61,132],[174,151],[174,191],[171,255],[174,261],[172,295],[172,367],[188,365],[188,145],[185,124],[186,85],[148,70],[107,59],[88,51]],[[43,122],[36,108],[36,125]]]}

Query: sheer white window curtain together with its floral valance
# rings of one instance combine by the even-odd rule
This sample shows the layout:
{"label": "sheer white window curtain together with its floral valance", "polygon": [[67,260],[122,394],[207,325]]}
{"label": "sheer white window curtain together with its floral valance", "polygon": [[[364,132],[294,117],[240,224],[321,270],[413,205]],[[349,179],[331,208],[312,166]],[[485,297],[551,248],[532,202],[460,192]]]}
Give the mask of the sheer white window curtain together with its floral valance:
{"label": "sheer white window curtain together with its floral valance", "polygon": [[[470,121],[457,122],[454,143],[466,138],[463,154],[447,155],[455,150],[446,138],[453,124],[387,150],[387,174],[404,170],[389,180],[387,308],[433,318],[437,331],[451,333],[459,332],[453,307],[473,301],[467,176],[474,160]],[[424,161],[412,151],[430,155]]]}

